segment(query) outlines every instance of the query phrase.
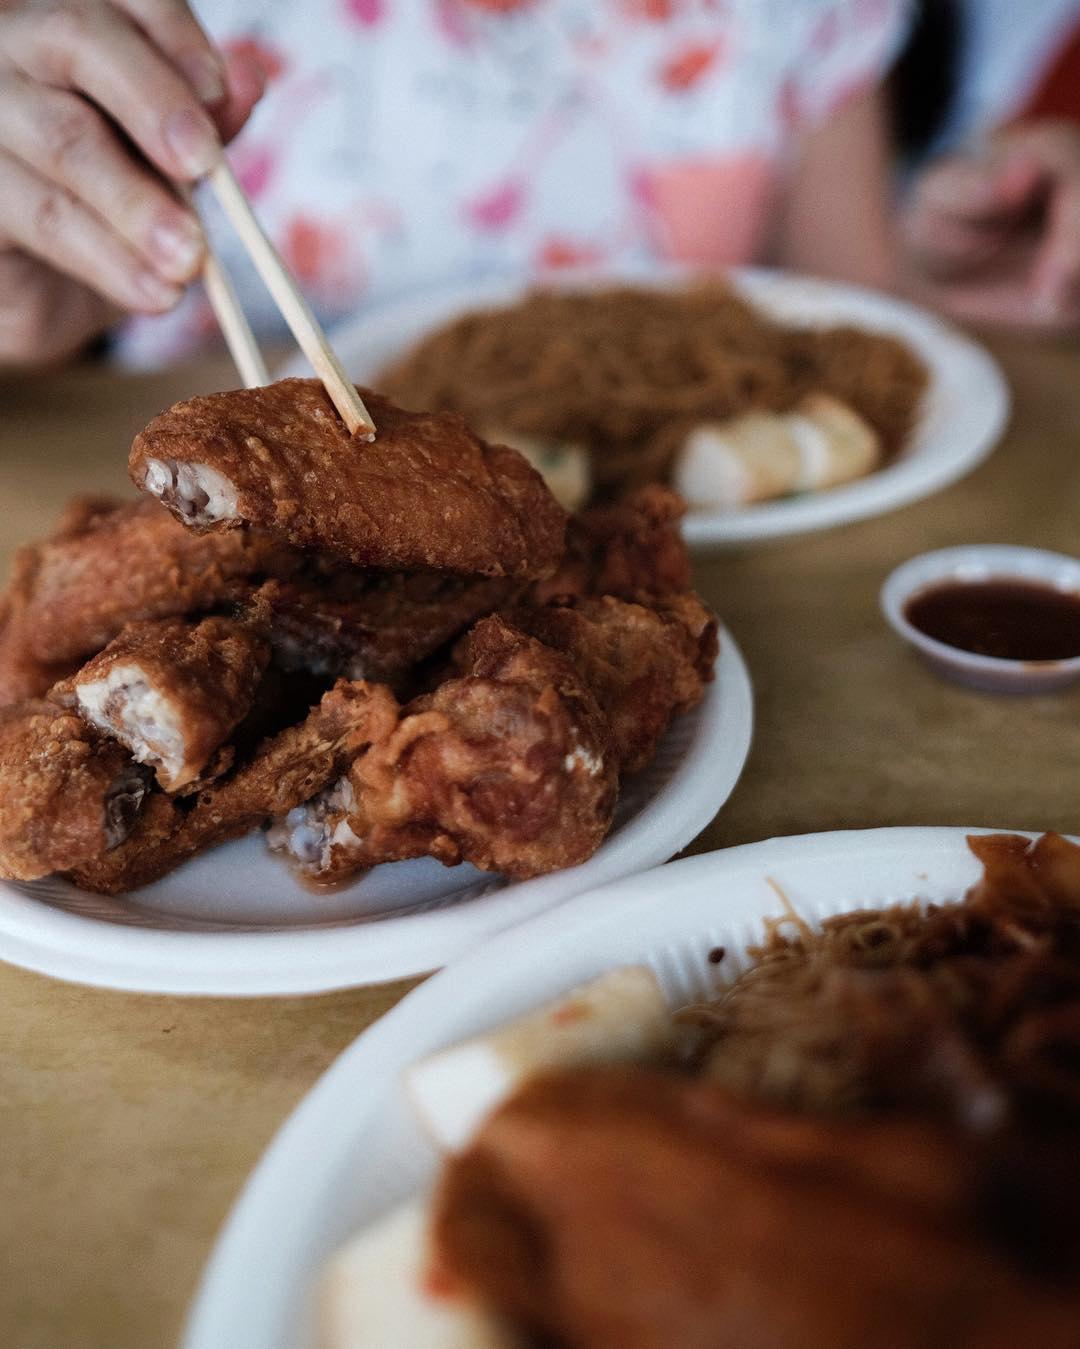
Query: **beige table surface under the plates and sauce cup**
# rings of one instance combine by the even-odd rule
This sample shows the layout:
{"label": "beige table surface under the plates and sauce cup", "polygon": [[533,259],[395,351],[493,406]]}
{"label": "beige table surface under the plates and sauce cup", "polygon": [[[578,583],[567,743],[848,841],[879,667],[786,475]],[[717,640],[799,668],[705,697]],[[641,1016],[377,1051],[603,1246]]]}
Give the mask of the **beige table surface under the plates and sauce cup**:
{"label": "beige table surface under the plates and sauce cup", "polygon": [[[953,688],[878,614],[886,573],[930,548],[1080,552],[1080,351],[994,347],[1015,415],[969,479],[882,519],[698,565],[750,664],[758,726],[743,781],[694,850],[878,824],[1077,828],[1080,692]],[[0,380],[0,567],[74,490],[125,486],[127,447],[154,411],[228,380],[220,364]],[[407,987],[182,1000],[0,965],[0,1345],[173,1345],[274,1130]]]}

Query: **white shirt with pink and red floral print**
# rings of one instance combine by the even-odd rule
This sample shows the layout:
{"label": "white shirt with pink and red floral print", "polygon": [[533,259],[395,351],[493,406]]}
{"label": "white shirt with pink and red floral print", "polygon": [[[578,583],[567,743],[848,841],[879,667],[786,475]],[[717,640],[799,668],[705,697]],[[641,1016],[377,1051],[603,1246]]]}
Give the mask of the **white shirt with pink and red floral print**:
{"label": "white shirt with pink and red floral print", "polygon": [[[512,270],[767,247],[790,151],[880,77],[907,0],[204,0],[267,93],[231,158],[324,321]],[[208,204],[209,212],[209,204]],[[212,214],[212,213],[210,213]],[[258,331],[272,302],[212,233]],[[119,341],[214,335],[193,289]]]}

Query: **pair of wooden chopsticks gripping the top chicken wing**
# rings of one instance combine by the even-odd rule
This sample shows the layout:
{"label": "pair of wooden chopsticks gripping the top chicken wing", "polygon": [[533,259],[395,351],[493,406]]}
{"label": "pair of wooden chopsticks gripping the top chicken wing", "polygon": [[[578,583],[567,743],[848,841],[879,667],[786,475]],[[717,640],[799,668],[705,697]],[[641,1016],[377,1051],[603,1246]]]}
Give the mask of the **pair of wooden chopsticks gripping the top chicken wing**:
{"label": "pair of wooden chopsticks gripping the top chicken wing", "polygon": [[[367,440],[375,438],[375,422],[356,393],[352,380],[341,367],[333,347],[326,340],[318,320],[311,313],[311,306],[301,294],[297,282],[266,231],[255,217],[251,202],[244,196],[244,189],[236,181],[236,175],[222,155],[217,166],[208,174],[206,182],[217,197],[221,209],[229,217],[229,223],[236,231],[240,243],[255,263],[255,270],[263,278],[274,302],[289,325],[290,332],[303,355],[310,360],[318,378],[322,380],[330,402],[341,414],[341,420],[351,436],[363,436]],[[191,205],[194,197],[185,194]],[[204,235],[206,231],[204,229]],[[208,241],[206,262],[202,270],[202,279],[206,286],[206,297],[213,306],[217,321],[221,324],[225,343],[229,348],[240,378],[248,389],[256,389],[270,383],[263,353],[255,341],[255,333],[247,321],[240,299],[229,281],[228,272],[221,266],[221,260],[213,252]]]}

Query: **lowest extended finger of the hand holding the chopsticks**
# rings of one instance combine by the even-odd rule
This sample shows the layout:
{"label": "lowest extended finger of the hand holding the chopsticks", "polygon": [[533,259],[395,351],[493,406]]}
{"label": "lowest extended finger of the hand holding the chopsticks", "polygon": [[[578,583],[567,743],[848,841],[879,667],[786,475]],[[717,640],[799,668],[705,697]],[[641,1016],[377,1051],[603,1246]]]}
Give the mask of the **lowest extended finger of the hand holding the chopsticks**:
{"label": "lowest extended finger of the hand holding the chopsticks", "polygon": [[104,220],[0,151],[0,243],[13,243],[123,309],[162,313],[182,291],[143,263]]}

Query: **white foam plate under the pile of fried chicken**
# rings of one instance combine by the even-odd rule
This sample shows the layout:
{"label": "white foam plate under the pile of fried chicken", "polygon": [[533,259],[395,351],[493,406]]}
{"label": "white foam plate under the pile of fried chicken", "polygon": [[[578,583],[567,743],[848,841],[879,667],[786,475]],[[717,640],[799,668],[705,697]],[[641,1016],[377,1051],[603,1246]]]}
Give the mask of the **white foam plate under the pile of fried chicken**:
{"label": "white foam plate under the pile of fried chicken", "polygon": [[318,993],[436,970],[582,890],[657,866],[731,795],[750,750],[750,677],[721,630],[716,680],[620,793],[615,828],[581,866],[510,884],[430,858],[313,894],[258,835],[120,898],[65,881],[0,882],[0,959],[144,993]]}

